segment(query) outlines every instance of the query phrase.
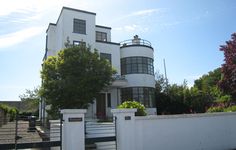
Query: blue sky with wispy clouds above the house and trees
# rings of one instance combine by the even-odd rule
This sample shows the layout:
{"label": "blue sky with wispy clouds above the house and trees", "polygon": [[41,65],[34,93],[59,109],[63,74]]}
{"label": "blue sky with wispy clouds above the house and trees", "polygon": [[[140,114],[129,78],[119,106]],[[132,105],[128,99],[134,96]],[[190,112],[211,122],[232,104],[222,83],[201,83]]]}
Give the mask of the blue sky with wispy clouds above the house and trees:
{"label": "blue sky with wispy clouds above the house and trees", "polygon": [[235,0],[9,0],[0,5],[0,101],[40,85],[48,23],[63,6],[92,11],[112,27],[112,41],[138,34],[154,48],[155,71],[189,86],[220,67],[219,46],[236,32]]}

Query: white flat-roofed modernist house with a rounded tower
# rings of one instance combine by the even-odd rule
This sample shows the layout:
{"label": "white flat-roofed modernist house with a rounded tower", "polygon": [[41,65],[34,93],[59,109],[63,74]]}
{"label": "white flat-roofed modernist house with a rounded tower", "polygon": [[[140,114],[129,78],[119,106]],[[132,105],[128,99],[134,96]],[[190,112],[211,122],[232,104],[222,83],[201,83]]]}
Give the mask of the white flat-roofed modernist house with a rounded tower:
{"label": "white flat-roofed modernist house with a rounded tower", "polygon": [[111,116],[127,99],[143,103],[149,114],[155,114],[154,67],[151,43],[137,35],[121,43],[111,42],[111,28],[96,25],[96,13],[63,7],[57,22],[46,31],[44,59],[65,48],[67,39],[74,45],[86,44],[96,48],[100,57],[108,59],[117,70],[115,81],[90,105],[87,117]]}

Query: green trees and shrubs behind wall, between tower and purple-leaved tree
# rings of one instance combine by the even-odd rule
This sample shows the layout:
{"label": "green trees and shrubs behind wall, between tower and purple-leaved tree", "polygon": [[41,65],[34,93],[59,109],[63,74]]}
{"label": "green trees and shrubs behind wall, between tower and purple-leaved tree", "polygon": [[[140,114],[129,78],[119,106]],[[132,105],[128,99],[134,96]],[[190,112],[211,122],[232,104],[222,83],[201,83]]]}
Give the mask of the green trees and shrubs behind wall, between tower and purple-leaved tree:
{"label": "green trees and shrubs behind wall, between tower and purple-leaved tree", "polygon": [[[156,78],[156,104],[158,114],[203,113],[213,101],[223,94],[217,88],[220,70],[216,69],[195,81],[194,87],[183,84],[163,84],[164,78]],[[211,78],[211,76],[213,76]]]}

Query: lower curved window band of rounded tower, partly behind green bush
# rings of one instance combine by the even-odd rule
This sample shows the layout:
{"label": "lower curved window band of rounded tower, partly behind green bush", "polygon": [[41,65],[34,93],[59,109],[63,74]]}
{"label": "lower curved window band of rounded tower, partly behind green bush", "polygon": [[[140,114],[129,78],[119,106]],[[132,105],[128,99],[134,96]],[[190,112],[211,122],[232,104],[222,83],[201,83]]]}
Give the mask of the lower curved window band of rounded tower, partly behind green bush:
{"label": "lower curved window band of rounded tower, partly behind green bush", "polygon": [[121,89],[121,101],[134,100],[142,103],[145,107],[155,107],[154,88],[129,87]]}

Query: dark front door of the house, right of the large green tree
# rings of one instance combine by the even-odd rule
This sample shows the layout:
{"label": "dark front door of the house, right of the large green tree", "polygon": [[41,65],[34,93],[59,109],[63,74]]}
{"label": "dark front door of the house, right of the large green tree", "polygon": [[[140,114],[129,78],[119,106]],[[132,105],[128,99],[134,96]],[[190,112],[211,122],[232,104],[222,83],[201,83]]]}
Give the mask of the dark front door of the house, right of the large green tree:
{"label": "dark front door of the house, right of the large green tree", "polygon": [[102,119],[106,117],[106,94],[100,93],[96,99],[97,103],[97,118]]}

